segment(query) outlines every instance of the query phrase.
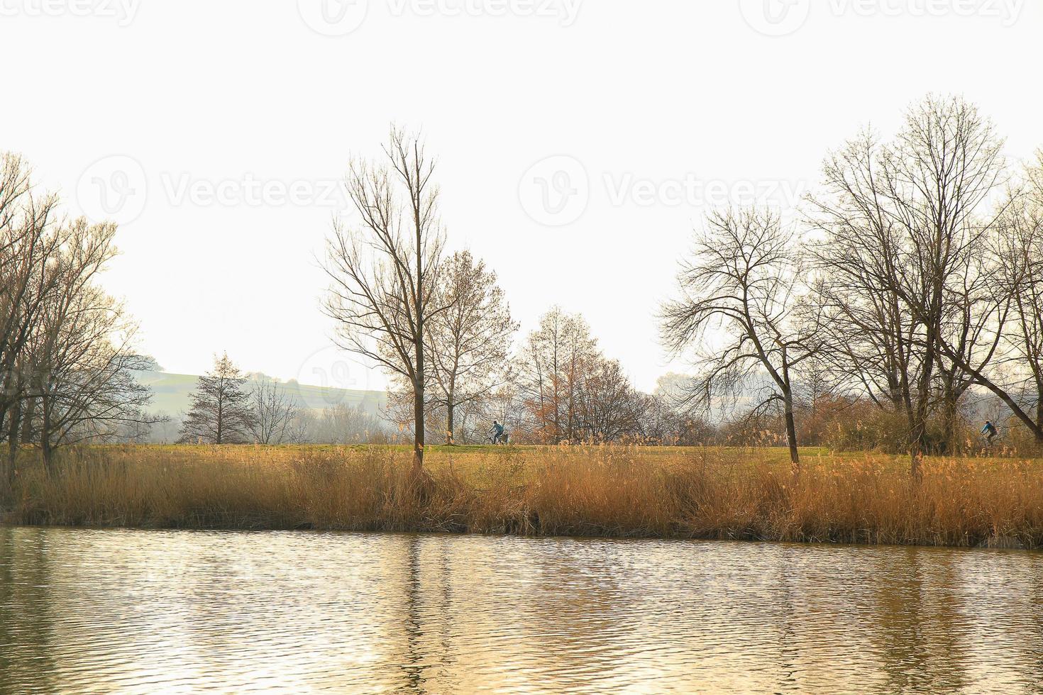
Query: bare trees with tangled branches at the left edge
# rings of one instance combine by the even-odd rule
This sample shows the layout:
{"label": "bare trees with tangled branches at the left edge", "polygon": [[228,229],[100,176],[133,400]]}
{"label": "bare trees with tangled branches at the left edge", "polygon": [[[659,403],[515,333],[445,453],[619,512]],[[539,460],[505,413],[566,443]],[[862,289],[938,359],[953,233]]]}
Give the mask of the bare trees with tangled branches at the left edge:
{"label": "bare trees with tangled branches at the left edge", "polygon": [[18,157],[0,156],[0,431],[5,481],[22,444],[107,441],[155,419],[135,371],[136,324],[96,284],[116,249],[113,224],[56,219],[54,196],[32,192]]}

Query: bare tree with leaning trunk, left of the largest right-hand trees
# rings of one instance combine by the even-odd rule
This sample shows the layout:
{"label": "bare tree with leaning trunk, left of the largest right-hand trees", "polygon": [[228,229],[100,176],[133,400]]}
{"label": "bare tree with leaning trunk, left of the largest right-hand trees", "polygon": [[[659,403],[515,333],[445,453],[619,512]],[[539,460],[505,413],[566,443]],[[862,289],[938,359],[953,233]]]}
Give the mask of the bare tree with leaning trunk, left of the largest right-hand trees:
{"label": "bare tree with leaning trunk, left of the largest right-hand trees", "polygon": [[680,298],[663,306],[663,342],[675,354],[700,347],[686,396],[697,409],[709,412],[718,399],[734,401],[751,389],[759,392],[754,412],[781,404],[799,470],[794,370],[819,352],[820,339],[817,321],[800,316],[795,240],[770,210],[712,213],[706,224],[678,275]]}

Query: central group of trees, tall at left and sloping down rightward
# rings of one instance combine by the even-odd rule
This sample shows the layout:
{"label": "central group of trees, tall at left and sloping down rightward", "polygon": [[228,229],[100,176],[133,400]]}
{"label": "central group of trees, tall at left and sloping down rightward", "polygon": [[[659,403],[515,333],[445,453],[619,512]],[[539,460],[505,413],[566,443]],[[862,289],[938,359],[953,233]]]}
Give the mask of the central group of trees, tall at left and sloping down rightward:
{"label": "central group of trees, tall at left and sloping down rightward", "polygon": [[389,418],[411,430],[416,469],[428,442],[481,442],[493,420],[518,442],[681,441],[687,416],[637,391],[582,317],[552,307],[514,347],[495,273],[445,251],[434,173],[421,139],[392,128],[379,160],[350,164],[359,224],[334,223],[324,263],[337,343],[391,374]]}

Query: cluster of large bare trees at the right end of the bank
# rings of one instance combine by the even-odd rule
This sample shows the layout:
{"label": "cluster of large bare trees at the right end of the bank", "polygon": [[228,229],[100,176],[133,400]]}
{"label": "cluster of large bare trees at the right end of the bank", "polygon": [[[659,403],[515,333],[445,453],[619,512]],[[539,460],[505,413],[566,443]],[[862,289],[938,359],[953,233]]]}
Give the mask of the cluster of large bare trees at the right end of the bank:
{"label": "cluster of large bare trees at the right end of the bank", "polygon": [[931,96],[894,138],[828,153],[796,221],[711,214],[662,312],[664,343],[697,358],[685,404],[756,389],[795,466],[801,380],[891,416],[914,474],[984,396],[1043,444],[1043,158],[1018,172],[1002,145],[973,104]]}

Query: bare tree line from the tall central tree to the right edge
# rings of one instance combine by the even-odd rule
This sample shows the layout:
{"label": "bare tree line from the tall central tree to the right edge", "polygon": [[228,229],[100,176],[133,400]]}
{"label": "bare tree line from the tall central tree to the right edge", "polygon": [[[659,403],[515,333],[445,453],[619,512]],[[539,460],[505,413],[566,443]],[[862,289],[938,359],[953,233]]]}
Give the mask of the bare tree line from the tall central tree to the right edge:
{"label": "bare tree line from the tall central tree to the right edge", "polygon": [[1002,146],[973,104],[928,96],[893,138],[829,152],[796,219],[710,213],[660,312],[694,373],[653,395],[558,307],[511,348],[495,274],[444,252],[435,164],[399,129],[382,162],[349,168],[361,225],[334,226],[324,308],[342,347],[394,374],[418,469],[426,442],[481,441],[498,416],[549,444],[733,441],[769,423],[795,467],[808,424],[876,418],[916,473],[964,447],[969,407],[990,402],[1043,444],[1043,159],[1016,172]]}

